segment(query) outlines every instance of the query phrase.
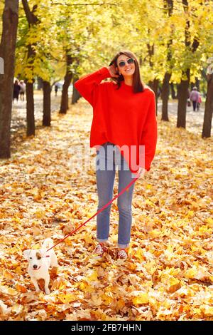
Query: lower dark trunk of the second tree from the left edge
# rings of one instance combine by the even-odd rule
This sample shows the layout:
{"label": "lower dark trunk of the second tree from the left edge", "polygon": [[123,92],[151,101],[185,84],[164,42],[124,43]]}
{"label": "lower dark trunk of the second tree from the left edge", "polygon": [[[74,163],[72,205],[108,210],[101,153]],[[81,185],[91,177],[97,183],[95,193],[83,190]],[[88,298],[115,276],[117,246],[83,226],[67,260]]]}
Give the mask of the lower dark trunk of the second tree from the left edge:
{"label": "lower dark trunk of the second tree from the left edge", "polygon": [[26,82],[27,136],[35,135],[33,83]]}

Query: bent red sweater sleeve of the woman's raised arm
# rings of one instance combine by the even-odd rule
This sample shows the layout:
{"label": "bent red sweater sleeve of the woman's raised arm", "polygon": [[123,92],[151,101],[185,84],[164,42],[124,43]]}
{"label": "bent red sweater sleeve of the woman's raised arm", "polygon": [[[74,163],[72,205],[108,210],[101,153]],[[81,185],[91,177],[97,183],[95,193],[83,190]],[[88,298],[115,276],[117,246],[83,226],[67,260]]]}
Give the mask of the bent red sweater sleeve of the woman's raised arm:
{"label": "bent red sweater sleeve of the woman's raised arm", "polygon": [[81,96],[83,96],[89,103],[94,107],[95,100],[97,98],[97,92],[99,91],[99,85],[105,78],[111,77],[109,70],[106,66],[99,70],[89,73],[86,76],[75,81],[75,88]]}

